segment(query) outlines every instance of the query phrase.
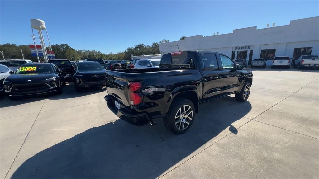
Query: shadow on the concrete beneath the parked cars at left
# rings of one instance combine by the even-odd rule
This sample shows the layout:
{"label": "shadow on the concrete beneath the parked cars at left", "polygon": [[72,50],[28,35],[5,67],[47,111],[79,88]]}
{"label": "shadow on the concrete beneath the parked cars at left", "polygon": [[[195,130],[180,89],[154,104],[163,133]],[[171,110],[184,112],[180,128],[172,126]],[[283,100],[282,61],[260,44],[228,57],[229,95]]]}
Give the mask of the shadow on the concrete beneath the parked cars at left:
{"label": "shadow on the concrete beneath the parked cars at left", "polygon": [[35,101],[40,101],[44,99],[68,99],[68,98],[75,98],[75,97],[81,97],[86,95],[91,95],[99,92],[106,91],[105,87],[101,88],[89,88],[82,90],[80,92],[75,92],[74,89],[74,83],[69,82],[65,87],[63,87],[63,94],[46,94],[46,95],[36,95],[36,96],[28,96],[28,97],[19,97],[15,100],[9,100],[6,94],[1,93],[0,97],[0,108],[4,107],[10,107],[10,106],[16,106],[20,104],[26,104],[26,103],[32,103]]}

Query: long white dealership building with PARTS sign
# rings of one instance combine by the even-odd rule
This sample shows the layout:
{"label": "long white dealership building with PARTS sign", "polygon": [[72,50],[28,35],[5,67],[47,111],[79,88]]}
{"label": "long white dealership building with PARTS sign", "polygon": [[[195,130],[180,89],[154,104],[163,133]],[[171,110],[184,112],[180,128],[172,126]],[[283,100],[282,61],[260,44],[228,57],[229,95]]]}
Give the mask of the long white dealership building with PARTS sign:
{"label": "long white dealership building with PARTS sign", "polygon": [[247,27],[233,33],[203,37],[186,37],[184,40],[159,44],[161,54],[178,51],[214,51],[228,55],[233,60],[246,59],[250,65],[256,58],[267,60],[267,66],[275,56],[318,55],[319,17],[290,21],[289,25],[263,29]]}

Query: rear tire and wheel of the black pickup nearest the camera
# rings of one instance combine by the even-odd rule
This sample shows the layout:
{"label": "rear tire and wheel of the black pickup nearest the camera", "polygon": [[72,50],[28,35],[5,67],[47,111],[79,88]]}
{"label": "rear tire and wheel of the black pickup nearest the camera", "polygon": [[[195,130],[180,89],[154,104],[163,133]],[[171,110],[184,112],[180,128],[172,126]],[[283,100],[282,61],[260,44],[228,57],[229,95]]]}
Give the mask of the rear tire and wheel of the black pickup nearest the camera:
{"label": "rear tire and wheel of the black pickup nearest the camera", "polygon": [[182,134],[190,128],[194,118],[194,104],[186,98],[177,98],[174,99],[166,117],[163,118],[163,123],[169,131]]}

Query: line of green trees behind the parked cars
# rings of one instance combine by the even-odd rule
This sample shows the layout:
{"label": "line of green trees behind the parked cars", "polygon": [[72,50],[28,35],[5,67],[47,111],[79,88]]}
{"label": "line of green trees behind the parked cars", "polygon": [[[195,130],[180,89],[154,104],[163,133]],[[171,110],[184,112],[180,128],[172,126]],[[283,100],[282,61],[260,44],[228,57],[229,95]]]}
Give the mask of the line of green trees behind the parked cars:
{"label": "line of green trees behind the parked cars", "polygon": [[[159,43],[166,43],[169,40],[163,39]],[[70,47],[68,44],[55,44],[51,45],[52,51],[55,54],[55,59],[68,59],[70,61],[78,61],[89,58],[104,59],[104,60],[131,60],[131,54],[133,56],[138,55],[151,55],[159,54],[159,43],[154,42],[151,45],[138,44],[134,47],[128,47],[125,51],[118,53],[108,53],[104,54],[100,51],[95,50],[75,50]],[[49,48],[48,48],[49,49]],[[22,59],[22,53],[24,59],[37,61],[37,57],[31,55],[30,47],[28,45],[19,45],[16,44],[0,44],[0,51],[3,52],[5,60],[9,59]],[[3,60],[2,54],[0,54],[0,59]],[[43,61],[43,59],[41,60]]]}

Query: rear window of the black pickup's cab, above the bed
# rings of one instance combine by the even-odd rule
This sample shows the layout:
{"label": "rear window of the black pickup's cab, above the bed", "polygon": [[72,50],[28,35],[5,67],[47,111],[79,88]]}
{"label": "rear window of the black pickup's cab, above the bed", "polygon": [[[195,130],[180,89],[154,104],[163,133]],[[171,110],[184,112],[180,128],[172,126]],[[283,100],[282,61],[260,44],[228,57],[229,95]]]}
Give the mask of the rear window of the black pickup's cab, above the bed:
{"label": "rear window of the black pickup's cab, above the bed", "polygon": [[160,68],[195,68],[194,52],[173,52],[162,56]]}

